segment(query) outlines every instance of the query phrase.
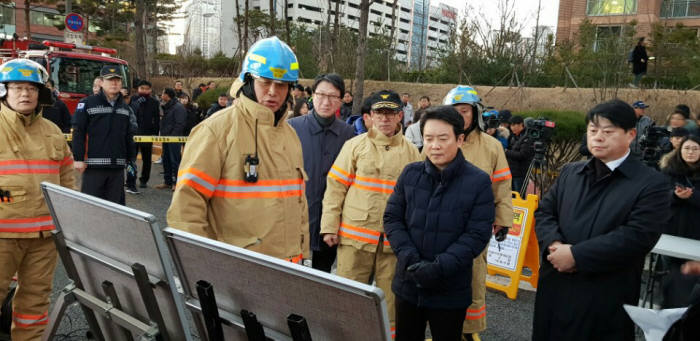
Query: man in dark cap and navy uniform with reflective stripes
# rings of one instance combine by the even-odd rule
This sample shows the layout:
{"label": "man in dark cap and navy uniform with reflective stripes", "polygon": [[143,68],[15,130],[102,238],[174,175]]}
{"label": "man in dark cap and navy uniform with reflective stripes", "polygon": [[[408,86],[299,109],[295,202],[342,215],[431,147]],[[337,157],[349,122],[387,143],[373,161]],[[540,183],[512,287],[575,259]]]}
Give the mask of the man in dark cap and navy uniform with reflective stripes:
{"label": "man in dark cap and navy uniform with reflective stripes", "polygon": [[121,95],[121,68],[100,71],[97,95],[78,103],[73,115],[75,169],[83,174],[81,191],[125,204],[124,167],[136,159],[136,116]]}

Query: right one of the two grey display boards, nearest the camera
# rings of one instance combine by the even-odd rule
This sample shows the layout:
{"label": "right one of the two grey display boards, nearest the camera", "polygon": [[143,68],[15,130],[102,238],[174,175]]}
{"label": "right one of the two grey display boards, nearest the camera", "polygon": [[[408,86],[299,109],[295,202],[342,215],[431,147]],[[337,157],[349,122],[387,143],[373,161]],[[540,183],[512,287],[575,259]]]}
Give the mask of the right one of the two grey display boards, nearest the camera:
{"label": "right one of the two grey display boards, nearest the camera", "polygon": [[391,340],[377,287],[173,228],[164,234],[187,307],[201,318],[196,283],[212,284],[226,340],[247,340],[242,309],[255,313],[274,340],[291,340],[290,314],[306,319],[313,340]]}

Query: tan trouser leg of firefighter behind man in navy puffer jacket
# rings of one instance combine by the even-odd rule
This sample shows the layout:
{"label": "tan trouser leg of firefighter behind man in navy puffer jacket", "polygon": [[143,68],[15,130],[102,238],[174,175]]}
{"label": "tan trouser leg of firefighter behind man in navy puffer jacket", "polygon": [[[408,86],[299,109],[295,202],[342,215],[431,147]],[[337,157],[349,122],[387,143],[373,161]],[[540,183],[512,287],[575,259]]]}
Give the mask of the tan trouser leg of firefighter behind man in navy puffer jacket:
{"label": "tan trouser leg of firefighter behind man in navy puffer jacket", "polygon": [[472,304],[467,308],[462,331],[465,334],[486,330],[486,255],[488,247],[474,258],[472,265]]}

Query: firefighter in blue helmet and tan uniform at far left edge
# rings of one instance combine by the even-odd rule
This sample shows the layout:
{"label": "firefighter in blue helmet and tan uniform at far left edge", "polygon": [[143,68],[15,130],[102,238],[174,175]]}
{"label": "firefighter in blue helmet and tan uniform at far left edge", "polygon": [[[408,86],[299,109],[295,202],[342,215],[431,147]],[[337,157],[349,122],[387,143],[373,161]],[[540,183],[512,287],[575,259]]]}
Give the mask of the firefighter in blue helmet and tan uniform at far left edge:
{"label": "firefighter in blue helmet and tan uniform at far left edge", "polygon": [[12,340],[39,340],[48,323],[56,266],[54,229],[39,184],[74,188],[73,156],[51,106],[46,70],[28,59],[0,65],[0,300],[17,274]]}

